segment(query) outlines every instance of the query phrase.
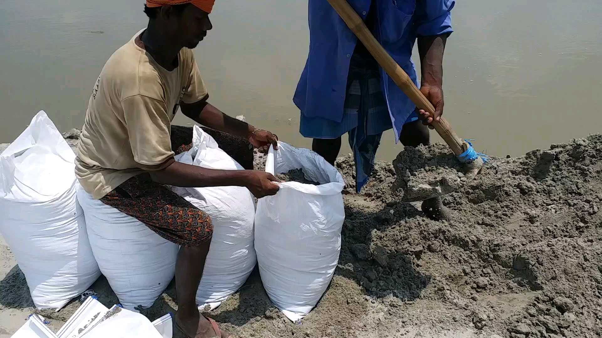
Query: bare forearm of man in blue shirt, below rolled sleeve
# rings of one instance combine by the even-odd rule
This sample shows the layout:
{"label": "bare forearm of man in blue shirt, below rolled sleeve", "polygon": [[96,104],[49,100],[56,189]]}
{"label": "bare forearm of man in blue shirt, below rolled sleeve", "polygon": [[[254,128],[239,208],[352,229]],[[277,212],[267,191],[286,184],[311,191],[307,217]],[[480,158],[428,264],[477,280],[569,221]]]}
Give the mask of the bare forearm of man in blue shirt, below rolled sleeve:
{"label": "bare forearm of man in blue shirt, below rolled sleeve", "polygon": [[418,37],[421,84],[441,87],[443,84],[443,52],[448,34]]}

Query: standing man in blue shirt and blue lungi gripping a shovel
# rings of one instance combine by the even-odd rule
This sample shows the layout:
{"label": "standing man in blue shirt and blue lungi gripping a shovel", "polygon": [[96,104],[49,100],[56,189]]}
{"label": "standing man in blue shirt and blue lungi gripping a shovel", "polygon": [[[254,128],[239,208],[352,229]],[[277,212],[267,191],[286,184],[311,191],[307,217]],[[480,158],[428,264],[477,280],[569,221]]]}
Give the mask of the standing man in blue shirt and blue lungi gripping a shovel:
{"label": "standing man in blue shirt and blue lungi gripping a shovel", "polygon": [[[452,32],[455,0],[348,0],[368,29],[435,106],[417,111],[326,0],[309,0],[309,55],[293,102],[301,111],[300,133],[334,164],[341,136],[349,133],[356,164],[356,191],[370,177],[382,132],[393,128],[404,146],[429,144],[429,128],[443,112],[442,61]],[[412,49],[418,42],[421,84]],[[427,128],[428,126],[428,128]],[[446,218],[440,198],[423,211]]]}

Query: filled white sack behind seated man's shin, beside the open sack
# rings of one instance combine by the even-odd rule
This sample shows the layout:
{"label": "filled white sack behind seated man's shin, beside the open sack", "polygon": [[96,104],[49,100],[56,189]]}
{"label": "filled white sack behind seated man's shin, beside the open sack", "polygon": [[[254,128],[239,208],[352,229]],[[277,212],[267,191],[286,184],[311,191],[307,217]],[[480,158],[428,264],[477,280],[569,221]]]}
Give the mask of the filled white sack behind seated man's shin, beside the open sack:
{"label": "filled white sack behind seated man's shin, beside the open sack", "polygon": [[[176,160],[209,169],[244,169],[198,126],[193,129],[192,149]],[[174,186],[172,190],[211,217],[213,238],[196,301],[200,307],[213,310],[243,286],[257,262],[253,247],[255,202],[249,189],[241,186]]]}

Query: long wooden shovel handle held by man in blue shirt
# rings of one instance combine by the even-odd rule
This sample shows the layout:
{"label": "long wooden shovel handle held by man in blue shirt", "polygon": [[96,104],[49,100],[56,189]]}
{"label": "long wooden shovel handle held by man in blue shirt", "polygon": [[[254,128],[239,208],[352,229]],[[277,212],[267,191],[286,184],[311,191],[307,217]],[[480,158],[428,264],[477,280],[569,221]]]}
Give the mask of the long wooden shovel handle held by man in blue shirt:
{"label": "long wooden shovel handle held by man in blue shirt", "polygon": [[[337,11],[347,26],[355,33],[364,46],[370,51],[370,54],[376,59],[385,72],[391,76],[391,79],[405,93],[418,109],[424,109],[431,114],[435,114],[435,107],[416,87],[412,79],[403,71],[402,67],[389,55],[380,45],[379,41],[364,24],[364,20],[349,5],[346,0],[328,0],[330,5]],[[447,123],[445,118],[441,117],[439,121],[433,121],[432,126],[441,135],[441,138],[447,143],[456,155],[464,153],[468,149],[468,143],[456,135],[452,126]]]}

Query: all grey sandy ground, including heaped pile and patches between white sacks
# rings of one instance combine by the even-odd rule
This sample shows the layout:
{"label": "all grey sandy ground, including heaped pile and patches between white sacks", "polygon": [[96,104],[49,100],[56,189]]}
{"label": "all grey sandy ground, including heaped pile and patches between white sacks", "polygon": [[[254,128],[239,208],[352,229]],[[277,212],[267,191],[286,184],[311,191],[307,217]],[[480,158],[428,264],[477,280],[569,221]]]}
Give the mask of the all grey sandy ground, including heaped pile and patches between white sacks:
{"label": "all grey sandy ground, including heaped pile and patches between white sacks", "polygon": [[[355,191],[351,156],[337,168]],[[393,165],[377,162],[362,193],[344,195],[340,263],[302,325],[272,306],[256,272],[208,315],[242,337],[602,336],[602,135],[491,158],[445,195],[450,221],[398,203],[394,181]],[[115,301],[104,278],[93,289]],[[174,297],[170,285],[145,313],[173,312]],[[31,312],[28,298],[13,268],[0,281],[0,312]],[[69,316],[45,315],[51,325]]]}

